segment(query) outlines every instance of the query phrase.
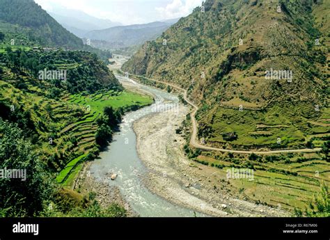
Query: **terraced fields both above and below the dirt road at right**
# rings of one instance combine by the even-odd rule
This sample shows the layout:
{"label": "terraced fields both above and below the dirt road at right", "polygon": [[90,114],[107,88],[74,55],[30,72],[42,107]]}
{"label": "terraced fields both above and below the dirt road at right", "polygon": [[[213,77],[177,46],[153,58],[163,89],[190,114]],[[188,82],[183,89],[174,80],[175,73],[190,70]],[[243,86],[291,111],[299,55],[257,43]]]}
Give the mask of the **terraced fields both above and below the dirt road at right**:
{"label": "terraced fields both above and below the dirt road at right", "polygon": [[[296,113],[293,109],[288,114],[281,111],[278,106],[270,109],[262,122],[256,110],[237,111],[237,109],[221,108],[220,111],[214,113],[210,121],[213,129],[219,129],[219,132],[214,134],[218,137],[210,140],[222,142],[228,147],[228,143],[221,135],[223,132],[235,131],[239,135],[239,138],[232,142],[237,144],[235,147],[306,147],[308,142],[314,147],[322,147],[324,142],[330,139],[329,109],[310,111],[308,107],[306,105],[306,109],[302,108],[299,111],[306,111],[306,116],[314,119],[313,121],[308,121],[308,118],[295,118]],[[218,120],[222,115],[227,118],[227,121]],[[203,129],[200,131],[201,136],[203,136],[203,131],[210,130],[203,128],[205,127],[203,122],[200,127]],[[249,134],[245,134],[246,129],[249,129]],[[186,133],[189,139],[191,134],[189,127]],[[278,138],[281,138],[281,143],[276,142]],[[189,150],[188,145],[184,149]],[[191,153],[188,156],[191,157]],[[249,156],[248,154],[195,151],[194,157],[192,157],[194,161],[214,168],[214,175],[219,177],[218,180],[227,181],[232,186],[228,191],[231,191],[233,195],[274,207],[290,210],[297,207],[304,209],[313,199],[313,195],[320,191],[321,182],[330,185],[330,159],[322,153],[283,153],[267,156],[251,154]],[[191,166],[196,165],[191,163]],[[253,169],[253,180],[227,179],[226,171],[231,168]]]}

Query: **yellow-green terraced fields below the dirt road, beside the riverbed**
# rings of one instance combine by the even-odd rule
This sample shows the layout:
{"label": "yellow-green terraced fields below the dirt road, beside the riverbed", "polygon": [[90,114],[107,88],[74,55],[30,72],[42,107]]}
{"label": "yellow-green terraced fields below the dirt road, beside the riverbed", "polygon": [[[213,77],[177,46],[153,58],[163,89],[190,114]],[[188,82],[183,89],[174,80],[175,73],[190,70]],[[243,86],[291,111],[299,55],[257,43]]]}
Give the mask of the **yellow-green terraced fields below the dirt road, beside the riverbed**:
{"label": "yellow-green terraced fields below the dirt road, beside the riverbed", "polygon": [[[196,161],[214,168],[214,175],[228,180],[234,195],[249,198],[274,207],[304,209],[320,191],[320,183],[330,186],[330,162],[322,160],[317,154],[292,154],[260,157],[246,160],[235,155],[214,156],[202,152]],[[226,170],[230,168],[253,168],[253,179],[227,179]]]}

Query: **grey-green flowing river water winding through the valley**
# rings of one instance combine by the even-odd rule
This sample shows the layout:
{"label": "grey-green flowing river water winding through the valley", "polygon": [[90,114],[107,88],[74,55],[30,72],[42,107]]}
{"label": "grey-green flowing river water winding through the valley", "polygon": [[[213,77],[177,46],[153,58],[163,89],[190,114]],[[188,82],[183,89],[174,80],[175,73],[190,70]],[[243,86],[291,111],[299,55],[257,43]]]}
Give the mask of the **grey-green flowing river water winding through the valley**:
{"label": "grey-green flowing river water winding through the valley", "polygon": [[[136,88],[151,93],[154,95],[155,103],[124,116],[123,122],[120,124],[120,131],[114,134],[112,143],[106,151],[100,154],[99,159],[93,161],[91,175],[97,180],[109,184],[109,186],[117,186],[123,198],[139,216],[194,216],[194,210],[174,205],[159,195],[151,193],[144,186],[142,178],[148,173],[148,169],[139,159],[136,150],[136,135],[133,131],[134,121],[143,118],[145,115],[155,114],[178,106],[178,97],[162,90],[143,86],[132,79],[116,77],[120,81],[130,81]],[[116,180],[111,180],[109,173],[118,174]],[[195,214],[196,216],[204,216],[199,213]]]}

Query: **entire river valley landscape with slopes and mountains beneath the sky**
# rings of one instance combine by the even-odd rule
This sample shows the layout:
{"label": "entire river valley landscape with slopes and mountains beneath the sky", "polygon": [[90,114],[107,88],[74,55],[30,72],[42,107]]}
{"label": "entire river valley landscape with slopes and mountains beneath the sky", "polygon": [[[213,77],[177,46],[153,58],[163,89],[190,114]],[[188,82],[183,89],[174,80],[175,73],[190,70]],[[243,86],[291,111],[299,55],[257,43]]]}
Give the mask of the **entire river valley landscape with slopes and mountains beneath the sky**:
{"label": "entire river valley landscape with slopes and mountains beneath the sky", "polygon": [[329,216],[329,1],[40,4],[0,0],[0,216]]}

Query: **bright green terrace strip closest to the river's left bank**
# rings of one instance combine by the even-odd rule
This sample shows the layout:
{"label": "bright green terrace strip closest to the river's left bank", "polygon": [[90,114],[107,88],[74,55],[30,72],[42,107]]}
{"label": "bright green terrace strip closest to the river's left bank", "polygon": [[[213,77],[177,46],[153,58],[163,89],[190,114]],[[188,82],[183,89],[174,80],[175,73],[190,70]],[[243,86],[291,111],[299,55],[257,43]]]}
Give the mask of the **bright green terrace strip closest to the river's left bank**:
{"label": "bright green terrace strip closest to the river's left bank", "polygon": [[56,180],[64,186],[72,186],[74,176],[79,173],[82,166],[81,163],[86,159],[88,153],[93,150],[93,147],[96,146],[95,132],[97,126],[95,120],[102,114],[105,106],[112,106],[114,109],[123,108],[124,111],[127,111],[132,106],[140,108],[152,103],[152,98],[148,95],[139,95],[128,91],[117,92],[114,90],[92,95],[66,95],[63,99],[85,111],[85,115],[79,118],[78,122],[73,122],[64,127],[60,132],[63,138],[66,136],[69,139],[75,139],[77,144],[73,148],[69,146],[68,150],[79,154],[79,157],[68,162],[65,168],[58,174],[58,177],[56,177]]}

